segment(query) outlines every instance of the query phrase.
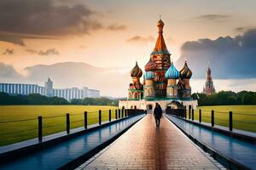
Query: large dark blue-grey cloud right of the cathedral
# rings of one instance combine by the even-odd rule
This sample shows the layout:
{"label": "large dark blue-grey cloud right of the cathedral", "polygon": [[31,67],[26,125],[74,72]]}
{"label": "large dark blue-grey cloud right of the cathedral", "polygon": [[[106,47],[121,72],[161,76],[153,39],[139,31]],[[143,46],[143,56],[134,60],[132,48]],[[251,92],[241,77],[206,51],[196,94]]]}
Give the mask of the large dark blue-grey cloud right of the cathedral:
{"label": "large dark blue-grey cloud right of the cathedral", "polygon": [[195,78],[206,77],[208,61],[213,78],[255,78],[256,29],[236,37],[185,42],[181,54],[177,60],[178,68],[186,59]]}

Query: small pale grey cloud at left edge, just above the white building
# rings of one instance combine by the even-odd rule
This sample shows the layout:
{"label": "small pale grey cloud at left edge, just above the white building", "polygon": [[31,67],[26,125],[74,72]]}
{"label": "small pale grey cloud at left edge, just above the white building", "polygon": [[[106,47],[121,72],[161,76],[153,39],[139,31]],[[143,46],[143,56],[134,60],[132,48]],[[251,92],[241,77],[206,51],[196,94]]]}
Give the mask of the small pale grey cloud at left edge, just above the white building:
{"label": "small pale grey cloud at left edge, just above the white building", "polygon": [[15,71],[12,65],[5,65],[4,63],[0,62],[0,77],[20,77],[20,74]]}

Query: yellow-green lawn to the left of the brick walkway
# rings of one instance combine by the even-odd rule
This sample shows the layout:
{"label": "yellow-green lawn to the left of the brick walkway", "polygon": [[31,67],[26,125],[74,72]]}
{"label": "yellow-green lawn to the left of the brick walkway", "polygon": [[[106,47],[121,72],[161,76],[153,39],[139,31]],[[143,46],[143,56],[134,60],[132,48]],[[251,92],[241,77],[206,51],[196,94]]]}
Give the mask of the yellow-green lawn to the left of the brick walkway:
{"label": "yellow-green lawn to the left of the brick walkway", "polygon": [[[44,135],[66,130],[66,113],[70,114],[71,128],[84,126],[84,111],[88,111],[88,124],[98,122],[98,111],[102,110],[102,121],[108,120],[108,110],[114,106],[99,105],[12,105],[0,106],[0,145],[12,144],[38,137],[38,116],[43,116]],[[51,117],[49,117],[51,116]],[[48,118],[47,118],[48,117]],[[19,121],[31,119],[28,121]],[[3,123],[4,122],[4,123]]]}

